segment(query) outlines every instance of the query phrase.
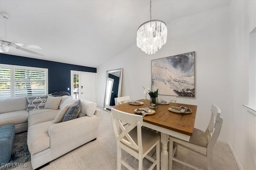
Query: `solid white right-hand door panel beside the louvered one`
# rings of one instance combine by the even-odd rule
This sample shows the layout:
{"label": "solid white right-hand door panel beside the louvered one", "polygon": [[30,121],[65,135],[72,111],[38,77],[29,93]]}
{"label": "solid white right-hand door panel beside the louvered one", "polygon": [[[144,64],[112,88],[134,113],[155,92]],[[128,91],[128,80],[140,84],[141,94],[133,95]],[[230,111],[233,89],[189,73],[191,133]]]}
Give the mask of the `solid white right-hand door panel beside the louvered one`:
{"label": "solid white right-hand door panel beside the louvered one", "polygon": [[81,99],[96,103],[96,74],[81,72]]}

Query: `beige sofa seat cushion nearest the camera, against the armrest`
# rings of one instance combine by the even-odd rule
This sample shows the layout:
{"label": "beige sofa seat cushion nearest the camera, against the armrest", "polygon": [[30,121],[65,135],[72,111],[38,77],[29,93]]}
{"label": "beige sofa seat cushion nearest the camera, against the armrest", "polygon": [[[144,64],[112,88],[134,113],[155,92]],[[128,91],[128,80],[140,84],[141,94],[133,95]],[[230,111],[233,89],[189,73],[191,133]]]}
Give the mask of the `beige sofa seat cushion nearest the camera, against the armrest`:
{"label": "beige sofa seat cushion nearest the camera, against the armrest", "polygon": [[48,129],[52,125],[54,125],[53,121],[46,121],[28,128],[27,143],[30,154],[36,154],[50,147]]}

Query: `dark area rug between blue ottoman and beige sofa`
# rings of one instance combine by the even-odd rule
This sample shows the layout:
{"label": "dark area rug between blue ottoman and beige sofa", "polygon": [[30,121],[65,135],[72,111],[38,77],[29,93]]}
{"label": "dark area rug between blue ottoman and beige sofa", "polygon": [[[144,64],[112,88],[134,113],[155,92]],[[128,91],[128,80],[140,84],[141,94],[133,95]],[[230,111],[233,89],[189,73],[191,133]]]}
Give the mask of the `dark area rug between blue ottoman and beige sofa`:
{"label": "dark area rug between blue ottoman and beige sofa", "polygon": [[10,170],[16,167],[26,167],[26,162],[30,161],[30,153],[27,145],[28,132],[17,133],[15,135],[12,155],[8,164],[0,166],[0,170]]}

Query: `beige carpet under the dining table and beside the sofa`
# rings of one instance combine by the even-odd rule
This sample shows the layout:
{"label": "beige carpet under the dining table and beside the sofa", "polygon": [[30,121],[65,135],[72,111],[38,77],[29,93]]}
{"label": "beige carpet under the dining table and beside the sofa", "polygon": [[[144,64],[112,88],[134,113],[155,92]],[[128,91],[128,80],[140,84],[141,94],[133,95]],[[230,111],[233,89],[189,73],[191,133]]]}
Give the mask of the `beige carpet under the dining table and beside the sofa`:
{"label": "beige carpet under the dining table and beside the sofa", "polygon": [[[81,129],[82,130],[82,129]],[[76,139],[74,139],[76,140]],[[178,148],[178,158],[186,160],[202,169],[207,169],[206,158],[188,149]],[[138,161],[128,158],[129,164],[138,169]],[[217,142],[213,151],[213,163],[215,170],[238,170],[232,152],[226,143]],[[150,167],[148,160],[143,163],[143,169]],[[14,170],[32,170],[31,162],[26,168],[14,168]],[[42,170],[115,170],[116,169],[116,141],[111,124],[110,112],[102,110],[98,138],[71,152],[50,162]],[[122,166],[122,169],[126,168]],[[156,168],[155,168],[156,169]],[[191,168],[173,163],[173,170],[190,170]]]}

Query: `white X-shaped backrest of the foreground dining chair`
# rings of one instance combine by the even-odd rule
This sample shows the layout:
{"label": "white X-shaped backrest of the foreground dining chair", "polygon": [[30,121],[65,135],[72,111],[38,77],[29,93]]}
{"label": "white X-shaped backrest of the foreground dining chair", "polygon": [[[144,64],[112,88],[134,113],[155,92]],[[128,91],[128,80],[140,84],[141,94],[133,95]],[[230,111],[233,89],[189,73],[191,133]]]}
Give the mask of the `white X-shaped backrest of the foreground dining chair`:
{"label": "white X-shaped backrest of the foreground dining chair", "polygon": [[[116,142],[118,145],[126,145],[142,152],[142,115],[130,114],[117,109],[111,108],[111,119],[114,133],[116,135]],[[124,126],[122,122],[127,124]],[[137,127],[137,139],[132,139],[130,132]],[[136,143],[135,141],[138,141]]]}

